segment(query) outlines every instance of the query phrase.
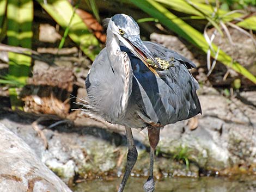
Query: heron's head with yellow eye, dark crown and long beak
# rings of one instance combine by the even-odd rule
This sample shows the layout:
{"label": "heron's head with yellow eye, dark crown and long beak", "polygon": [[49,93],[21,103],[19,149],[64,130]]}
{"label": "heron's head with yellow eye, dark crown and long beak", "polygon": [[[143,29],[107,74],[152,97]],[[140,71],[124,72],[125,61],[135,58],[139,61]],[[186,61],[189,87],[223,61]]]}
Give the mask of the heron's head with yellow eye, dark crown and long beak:
{"label": "heron's head with yellow eye, dark crown and long beak", "polygon": [[[160,64],[155,59],[154,55],[149,51],[149,49],[143,44],[139,36],[139,26],[138,23],[133,20],[131,16],[125,14],[117,14],[110,18],[108,23],[108,30],[118,38],[130,51],[143,63],[159,76],[158,73],[149,65],[150,62],[154,62],[160,67]],[[150,61],[150,62],[149,62]]]}

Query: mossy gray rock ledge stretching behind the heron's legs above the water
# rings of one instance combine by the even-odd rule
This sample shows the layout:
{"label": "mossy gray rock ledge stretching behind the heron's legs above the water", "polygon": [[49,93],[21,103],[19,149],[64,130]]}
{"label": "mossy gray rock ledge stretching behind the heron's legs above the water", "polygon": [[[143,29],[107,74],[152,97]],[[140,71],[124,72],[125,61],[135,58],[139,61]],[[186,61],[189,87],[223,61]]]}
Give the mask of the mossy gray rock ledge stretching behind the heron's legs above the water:
{"label": "mossy gray rock ledge stretching behind the heron's legs above the water", "polygon": [[[186,120],[161,130],[155,175],[157,178],[163,175],[198,177],[200,174],[214,175],[216,171],[220,175],[236,174],[242,169],[255,174],[256,169],[252,168],[256,165],[256,110],[253,104],[256,92],[240,93],[244,99],[248,97],[247,102],[224,97],[214,88],[201,92],[203,95],[199,99],[203,115],[194,117],[197,118],[194,122],[198,123],[194,129],[188,123],[190,120]],[[0,123],[25,140],[42,162],[66,183],[74,178],[120,175],[124,170],[127,147],[122,126],[104,125],[80,115],[74,118],[76,126],[59,125],[54,129],[44,129],[48,141],[48,150],[45,150],[42,139],[31,126],[36,117],[29,117],[31,119],[2,112]],[[44,122],[44,126],[51,123]],[[147,176],[147,130],[133,129],[133,135],[138,149],[133,175]]]}

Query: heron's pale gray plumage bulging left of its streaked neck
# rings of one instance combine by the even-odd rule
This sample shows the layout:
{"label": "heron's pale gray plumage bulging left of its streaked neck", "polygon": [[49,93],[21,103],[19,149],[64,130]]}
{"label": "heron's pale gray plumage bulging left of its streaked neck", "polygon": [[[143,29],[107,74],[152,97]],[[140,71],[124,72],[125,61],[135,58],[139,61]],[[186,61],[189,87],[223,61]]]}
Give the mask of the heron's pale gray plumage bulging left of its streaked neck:
{"label": "heron's pale gray plumage bulging left of its streaked neck", "polygon": [[[118,66],[121,61],[116,57],[114,64],[108,60],[106,48],[97,55],[86,78],[89,106],[92,112],[102,116],[106,121],[117,123],[121,115],[121,99],[124,81]],[[120,122],[119,122],[120,123]]]}

